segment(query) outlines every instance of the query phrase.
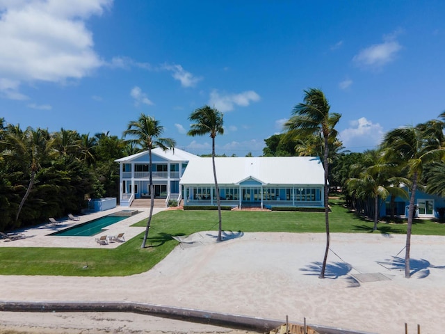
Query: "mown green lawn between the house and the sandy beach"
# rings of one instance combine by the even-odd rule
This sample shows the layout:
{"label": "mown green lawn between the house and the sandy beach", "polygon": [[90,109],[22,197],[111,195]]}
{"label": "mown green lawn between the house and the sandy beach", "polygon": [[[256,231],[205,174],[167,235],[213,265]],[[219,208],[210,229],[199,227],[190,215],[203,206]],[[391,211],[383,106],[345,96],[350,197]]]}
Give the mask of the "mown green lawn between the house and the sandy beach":
{"label": "mown green lawn between the house and the sandy beach", "polygon": [[[373,232],[373,222],[331,203],[331,232]],[[325,216],[319,212],[223,212],[223,230],[242,232],[325,232]],[[145,226],[146,221],[136,223]],[[378,233],[406,233],[406,224],[379,223]],[[172,235],[218,230],[217,211],[165,211],[153,216],[147,248],[143,234],[115,249],[15,248],[0,249],[3,275],[126,276],[154,267],[177,241]],[[445,224],[414,221],[413,234],[445,235]],[[88,267],[84,269],[88,264]]]}

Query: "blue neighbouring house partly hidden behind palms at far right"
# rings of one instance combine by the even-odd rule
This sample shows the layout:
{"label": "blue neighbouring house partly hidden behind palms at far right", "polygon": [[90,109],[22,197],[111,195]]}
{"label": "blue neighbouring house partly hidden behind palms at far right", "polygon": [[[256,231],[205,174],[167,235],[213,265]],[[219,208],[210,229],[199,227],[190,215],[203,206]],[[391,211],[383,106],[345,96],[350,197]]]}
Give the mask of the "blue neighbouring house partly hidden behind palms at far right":
{"label": "blue neighbouring house partly hidden behind palms at far right", "polygon": [[[405,190],[407,187],[404,186]],[[408,192],[408,195],[411,194]],[[416,218],[442,218],[439,214],[442,208],[445,208],[445,198],[437,195],[430,195],[423,191],[416,190],[416,197],[414,199],[416,205]],[[410,205],[409,198],[396,197],[395,199],[395,214],[396,216],[406,217],[408,215],[408,206]],[[391,196],[385,202],[380,204],[380,216],[389,216],[391,210]]]}

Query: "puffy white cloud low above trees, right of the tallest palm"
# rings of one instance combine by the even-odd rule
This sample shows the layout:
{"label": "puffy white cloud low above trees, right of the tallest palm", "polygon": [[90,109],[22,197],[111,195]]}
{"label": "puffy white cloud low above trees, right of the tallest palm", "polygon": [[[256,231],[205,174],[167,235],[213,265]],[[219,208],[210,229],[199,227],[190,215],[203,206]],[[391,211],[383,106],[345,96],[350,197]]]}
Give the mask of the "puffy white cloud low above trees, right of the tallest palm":
{"label": "puffy white cloud low above trees, right of the tallest palm", "polygon": [[383,138],[383,128],[379,123],[373,123],[362,117],[349,123],[350,127],[339,133],[339,138],[347,150],[362,151],[380,144]]}

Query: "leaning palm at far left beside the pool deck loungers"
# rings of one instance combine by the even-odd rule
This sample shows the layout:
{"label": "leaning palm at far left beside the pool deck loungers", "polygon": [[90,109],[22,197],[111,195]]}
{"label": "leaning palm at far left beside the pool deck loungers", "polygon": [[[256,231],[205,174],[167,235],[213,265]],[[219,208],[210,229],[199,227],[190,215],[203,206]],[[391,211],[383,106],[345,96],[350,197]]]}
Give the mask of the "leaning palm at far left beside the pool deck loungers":
{"label": "leaning palm at far left beside the pool deck loungers", "polygon": [[45,129],[32,129],[28,127],[22,132],[19,125],[9,126],[6,133],[6,150],[3,151],[3,155],[9,157],[13,161],[18,161],[19,164],[24,164],[29,168],[29,184],[26,188],[26,192],[22,198],[17,209],[15,221],[19,220],[20,212],[26,202],[26,199],[31,193],[33,188],[35,175],[41,168],[41,163],[44,159],[49,157],[51,150],[52,140],[49,133]]}

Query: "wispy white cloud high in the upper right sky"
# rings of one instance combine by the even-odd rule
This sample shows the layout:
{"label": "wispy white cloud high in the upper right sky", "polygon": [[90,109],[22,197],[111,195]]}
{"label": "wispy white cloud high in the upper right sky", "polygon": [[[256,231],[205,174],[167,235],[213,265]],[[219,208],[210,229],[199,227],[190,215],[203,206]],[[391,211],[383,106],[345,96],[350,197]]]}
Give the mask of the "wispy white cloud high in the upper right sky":
{"label": "wispy white cloud high in the upper right sky", "polygon": [[394,61],[398,51],[402,49],[402,46],[396,40],[401,32],[401,30],[396,30],[393,33],[384,35],[384,41],[382,43],[371,45],[370,47],[366,47],[366,49],[360,50],[359,53],[354,56],[353,61],[361,67],[377,69]]}

